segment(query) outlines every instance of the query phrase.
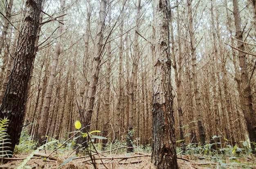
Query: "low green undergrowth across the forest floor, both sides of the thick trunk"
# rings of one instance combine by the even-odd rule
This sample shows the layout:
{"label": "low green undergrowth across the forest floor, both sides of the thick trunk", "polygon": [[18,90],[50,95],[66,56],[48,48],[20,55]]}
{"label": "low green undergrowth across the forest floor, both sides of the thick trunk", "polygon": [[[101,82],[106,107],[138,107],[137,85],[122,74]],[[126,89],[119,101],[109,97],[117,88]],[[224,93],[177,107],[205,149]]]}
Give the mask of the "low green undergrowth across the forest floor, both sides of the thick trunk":
{"label": "low green undergrowth across the forest floor, both sides of the thick trunk", "polygon": [[[80,129],[80,128],[79,128]],[[75,131],[74,131],[75,132]],[[72,133],[74,133],[72,132]],[[101,136],[94,136],[92,133],[99,131],[92,131],[89,133],[82,133],[80,130],[76,131],[80,133],[80,136],[69,138],[67,140],[56,140],[54,138],[47,138],[47,143],[38,149],[36,149],[36,142],[34,142],[29,136],[27,130],[23,130],[20,137],[20,143],[15,148],[15,153],[31,153],[33,154],[39,150],[49,150],[54,151],[58,147],[58,156],[62,156],[64,152],[74,151],[74,145],[78,137],[88,137],[92,142],[88,142],[88,147],[84,149],[89,154],[95,153],[95,151],[108,152],[109,154],[124,154],[127,150],[126,136],[121,137],[121,140],[111,140],[108,139],[108,143],[103,146],[100,143],[94,143],[94,139],[102,139]],[[252,169],[256,168],[256,162],[254,161],[255,155],[246,141],[240,141],[237,145],[232,146],[227,142],[214,142],[214,140],[220,140],[221,136],[213,136],[213,139],[210,142],[205,143],[204,145],[198,143],[189,143],[176,147],[177,156],[180,158],[187,157],[191,161],[210,161],[214,162],[214,167],[218,169],[236,169],[236,168],[245,168]],[[123,138],[123,139],[122,139]],[[227,139],[221,139],[227,140]],[[177,141],[177,144],[181,141]],[[252,142],[251,144],[255,144]],[[139,144],[139,138],[132,140],[132,145],[134,148],[134,153],[143,152],[151,153],[150,145],[141,145]],[[36,149],[36,150],[34,150]],[[28,156],[28,159],[31,157],[31,154]],[[76,156],[72,156],[63,162],[62,165],[66,164],[73,160]],[[23,167],[25,162],[23,163]],[[203,165],[203,167],[212,168],[212,165]]]}

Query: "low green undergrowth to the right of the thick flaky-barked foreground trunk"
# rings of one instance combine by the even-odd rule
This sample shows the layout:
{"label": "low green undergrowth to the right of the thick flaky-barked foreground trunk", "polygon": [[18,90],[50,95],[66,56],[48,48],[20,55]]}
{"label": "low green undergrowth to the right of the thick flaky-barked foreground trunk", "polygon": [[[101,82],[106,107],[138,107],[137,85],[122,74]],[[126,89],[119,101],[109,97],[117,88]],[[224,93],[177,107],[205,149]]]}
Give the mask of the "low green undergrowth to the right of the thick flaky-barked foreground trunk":
{"label": "low green undergrowth to the right of the thick flaky-barked foreground trunk", "polygon": [[[213,136],[213,138],[219,138],[221,136]],[[224,138],[224,140],[227,140]],[[212,140],[211,140],[212,141]],[[213,139],[214,141],[214,139]],[[249,147],[246,141],[240,141],[240,146],[231,146],[221,142],[206,143],[204,145],[189,143],[184,144],[182,147],[176,147],[178,156],[189,156],[191,160],[207,160],[217,163],[218,169],[236,169],[246,168],[252,169],[256,167],[256,161],[252,156],[252,149]],[[251,144],[256,144],[251,142]],[[256,149],[255,149],[256,150]],[[254,151],[255,151],[254,150]]]}

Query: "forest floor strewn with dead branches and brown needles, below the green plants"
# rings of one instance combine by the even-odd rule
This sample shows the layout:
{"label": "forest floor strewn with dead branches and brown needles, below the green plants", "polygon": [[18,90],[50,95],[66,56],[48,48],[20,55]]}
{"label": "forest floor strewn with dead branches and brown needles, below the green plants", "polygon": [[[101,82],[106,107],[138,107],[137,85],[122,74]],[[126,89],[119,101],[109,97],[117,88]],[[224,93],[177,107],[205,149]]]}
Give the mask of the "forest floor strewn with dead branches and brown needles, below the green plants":
{"label": "forest floor strewn with dead branches and brown needles, below the green plants", "polygon": [[[74,153],[54,152],[50,158],[47,156],[50,152],[40,151],[35,153],[31,159],[27,160],[23,168],[30,169],[94,169],[92,160],[88,156]],[[16,154],[14,158],[0,169],[16,169],[21,166],[24,159],[27,159],[29,153]],[[221,161],[202,158],[200,155],[178,155],[177,162],[179,169],[256,169],[256,157],[248,155],[246,157],[237,157],[236,160],[230,160],[229,156],[223,157]],[[92,158],[95,161],[97,169],[155,169],[148,153],[123,153],[123,154],[102,154],[94,153]],[[66,163],[65,163],[66,162]],[[65,164],[64,164],[65,163]],[[62,166],[61,166],[62,165]]]}

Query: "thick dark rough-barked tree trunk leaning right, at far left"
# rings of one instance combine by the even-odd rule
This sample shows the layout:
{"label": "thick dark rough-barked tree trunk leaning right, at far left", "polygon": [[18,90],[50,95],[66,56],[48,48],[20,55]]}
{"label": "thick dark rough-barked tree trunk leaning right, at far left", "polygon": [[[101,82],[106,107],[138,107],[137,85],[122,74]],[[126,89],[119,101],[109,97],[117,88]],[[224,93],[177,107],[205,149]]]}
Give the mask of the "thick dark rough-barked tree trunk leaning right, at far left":
{"label": "thick dark rough-barked tree trunk leaning right, at far left", "polygon": [[9,149],[11,152],[19,141],[22,129],[43,4],[44,0],[27,0],[25,4],[23,22],[14,54],[14,64],[0,107],[0,118],[7,117],[10,120],[7,133],[11,139]]}

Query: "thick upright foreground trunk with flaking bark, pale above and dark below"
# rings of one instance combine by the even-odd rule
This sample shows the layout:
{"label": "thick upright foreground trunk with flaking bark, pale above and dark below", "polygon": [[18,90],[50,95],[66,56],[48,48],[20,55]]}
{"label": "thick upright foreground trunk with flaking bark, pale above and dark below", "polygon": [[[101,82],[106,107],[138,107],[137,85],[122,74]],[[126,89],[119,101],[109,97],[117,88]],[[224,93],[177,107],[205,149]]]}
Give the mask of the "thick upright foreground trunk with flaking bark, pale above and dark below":
{"label": "thick upright foreground trunk with flaking bark, pale above and dark below", "polygon": [[152,161],[157,169],[177,169],[171,86],[170,2],[154,0]]}

